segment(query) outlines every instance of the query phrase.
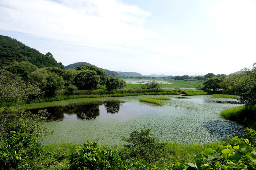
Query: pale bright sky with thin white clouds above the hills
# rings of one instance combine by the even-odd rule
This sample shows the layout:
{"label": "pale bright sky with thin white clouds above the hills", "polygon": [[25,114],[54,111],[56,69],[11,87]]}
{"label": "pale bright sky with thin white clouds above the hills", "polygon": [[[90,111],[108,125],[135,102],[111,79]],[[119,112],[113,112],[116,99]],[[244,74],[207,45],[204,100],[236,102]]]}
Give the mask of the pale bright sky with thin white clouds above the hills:
{"label": "pale bright sky with thin white clouds above the hills", "polygon": [[0,34],[67,66],[230,74],[256,62],[256,0],[0,0]]}

